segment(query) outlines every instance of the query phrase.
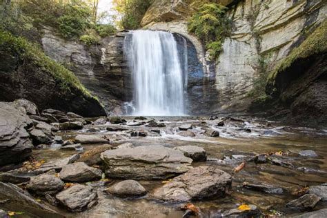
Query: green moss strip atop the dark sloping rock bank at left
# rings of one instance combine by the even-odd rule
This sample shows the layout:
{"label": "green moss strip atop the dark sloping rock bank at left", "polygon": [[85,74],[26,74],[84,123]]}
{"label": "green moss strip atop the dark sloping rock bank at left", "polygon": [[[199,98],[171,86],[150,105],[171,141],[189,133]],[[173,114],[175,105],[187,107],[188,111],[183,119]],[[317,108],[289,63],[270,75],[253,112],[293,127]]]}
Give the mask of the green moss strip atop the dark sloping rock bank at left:
{"label": "green moss strip atop the dark sloping rock bank at left", "polygon": [[86,97],[96,99],[84,88],[79,79],[56,61],[46,56],[36,43],[31,43],[23,37],[14,37],[10,32],[0,30],[0,54],[10,54],[17,57],[23,64],[31,63],[51,75],[63,91],[71,88],[80,90]]}

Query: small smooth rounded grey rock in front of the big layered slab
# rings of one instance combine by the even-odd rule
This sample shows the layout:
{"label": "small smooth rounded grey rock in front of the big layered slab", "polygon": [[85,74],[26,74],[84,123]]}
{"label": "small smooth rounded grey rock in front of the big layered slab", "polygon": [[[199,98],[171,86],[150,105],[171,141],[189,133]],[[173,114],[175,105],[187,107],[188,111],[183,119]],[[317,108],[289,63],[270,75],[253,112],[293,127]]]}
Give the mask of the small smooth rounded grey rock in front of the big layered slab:
{"label": "small smooth rounded grey rock in front of the big layered slab", "polygon": [[138,181],[129,179],[121,181],[107,189],[112,195],[119,197],[141,197],[146,195],[146,189]]}

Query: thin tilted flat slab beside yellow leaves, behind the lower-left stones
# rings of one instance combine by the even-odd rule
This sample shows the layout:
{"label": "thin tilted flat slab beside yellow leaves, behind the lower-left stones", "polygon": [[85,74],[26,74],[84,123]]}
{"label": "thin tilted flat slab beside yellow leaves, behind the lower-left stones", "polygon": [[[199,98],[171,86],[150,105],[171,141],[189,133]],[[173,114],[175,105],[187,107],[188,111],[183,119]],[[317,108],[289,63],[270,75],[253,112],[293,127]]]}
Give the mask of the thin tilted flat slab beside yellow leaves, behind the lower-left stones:
{"label": "thin tilted flat slab beside yellow leaves, behind the lower-left stones", "polygon": [[70,157],[66,157],[63,159],[57,159],[46,162],[46,164],[41,165],[40,168],[34,170],[34,173],[41,174],[44,172],[48,172],[49,170],[56,170],[59,172],[63,166],[68,164],[72,164],[79,159],[79,155],[72,155]]}

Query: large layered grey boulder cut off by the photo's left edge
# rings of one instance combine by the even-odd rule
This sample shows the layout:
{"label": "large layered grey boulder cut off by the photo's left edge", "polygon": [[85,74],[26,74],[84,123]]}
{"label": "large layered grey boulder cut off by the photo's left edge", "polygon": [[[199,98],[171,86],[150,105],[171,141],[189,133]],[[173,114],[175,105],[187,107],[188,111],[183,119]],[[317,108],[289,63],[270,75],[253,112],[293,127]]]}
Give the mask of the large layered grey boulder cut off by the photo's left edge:
{"label": "large layered grey boulder cut off by the photo's left edge", "polygon": [[32,120],[11,103],[0,102],[0,166],[17,163],[32,153],[26,128]]}

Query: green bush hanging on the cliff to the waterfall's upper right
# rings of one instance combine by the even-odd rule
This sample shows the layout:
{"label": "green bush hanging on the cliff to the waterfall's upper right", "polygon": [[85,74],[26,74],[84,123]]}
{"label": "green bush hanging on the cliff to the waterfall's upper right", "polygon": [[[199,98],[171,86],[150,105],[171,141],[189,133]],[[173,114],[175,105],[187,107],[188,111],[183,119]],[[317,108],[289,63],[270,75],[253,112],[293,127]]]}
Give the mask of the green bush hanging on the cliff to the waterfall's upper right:
{"label": "green bush hanging on the cliff to the waterfall's upper right", "polygon": [[188,21],[188,31],[206,43],[213,58],[221,52],[221,42],[230,34],[227,8],[217,3],[206,3]]}

